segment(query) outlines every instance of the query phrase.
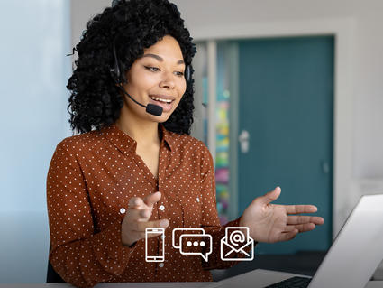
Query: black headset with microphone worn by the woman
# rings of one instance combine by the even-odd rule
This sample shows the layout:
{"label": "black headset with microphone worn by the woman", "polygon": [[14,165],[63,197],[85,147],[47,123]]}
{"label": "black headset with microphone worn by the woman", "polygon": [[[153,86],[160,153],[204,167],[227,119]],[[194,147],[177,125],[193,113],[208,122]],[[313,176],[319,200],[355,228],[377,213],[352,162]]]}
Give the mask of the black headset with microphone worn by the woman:
{"label": "black headset with microphone worn by the woman", "polygon": [[[148,104],[147,106],[141,104],[140,102],[138,102],[134,98],[132,98],[132,96],[129,95],[129,93],[126,92],[126,90],[121,85],[121,83],[123,82],[123,78],[122,78],[122,74],[121,74],[121,70],[120,70],[119,61],[117,58],[117,52],[115,50],[115,39],[113,42],[113,55],[114,55],[114,68],[111,69],[110,71],[111,71],[112,76],[114,77],[115,81],[117,82],[117,86],[122,90],[123,94],[125,94],[127,97],[131,98],[134,103],[140,105],[141,107],[146,108],[147,113],[154,115],[154,116],[161,116],[162,110],[163,110],[162,107],[160,107],[158,105],[151,104],[151,103]],[[187,83],[191,80],[191,66],[188,64],[185,67],[184,77],[187,80]]]}

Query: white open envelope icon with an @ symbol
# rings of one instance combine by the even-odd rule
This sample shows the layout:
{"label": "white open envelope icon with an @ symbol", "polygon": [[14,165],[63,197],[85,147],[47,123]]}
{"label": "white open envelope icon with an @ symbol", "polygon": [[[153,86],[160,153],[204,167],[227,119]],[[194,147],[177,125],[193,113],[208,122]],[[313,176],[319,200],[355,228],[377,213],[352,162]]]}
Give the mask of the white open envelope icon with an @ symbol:
{"label": "white open envelope icon with an @ symbol", "polygon": [[[246,248],[251,246],[251,252]],[[247,257],[236,257],[237,253]],[[221,259],[223,261],[251,261],[254,259],[254,239],[249,236],[248,227],[226,227],[221,239]]]}

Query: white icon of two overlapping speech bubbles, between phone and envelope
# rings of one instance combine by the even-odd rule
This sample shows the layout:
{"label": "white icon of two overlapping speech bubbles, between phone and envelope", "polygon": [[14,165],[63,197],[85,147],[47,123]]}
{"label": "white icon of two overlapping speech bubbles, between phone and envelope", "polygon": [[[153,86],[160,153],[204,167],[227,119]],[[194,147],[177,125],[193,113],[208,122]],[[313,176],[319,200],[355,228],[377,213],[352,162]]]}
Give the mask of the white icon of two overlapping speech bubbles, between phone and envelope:
{"label": "white icon of two overlapping speech bubbles, between phone and envelope", "polygon": [[182,255],[201,255],[206,262],[213,251],[213,237],[203,228],[173,229],[172,244]]}

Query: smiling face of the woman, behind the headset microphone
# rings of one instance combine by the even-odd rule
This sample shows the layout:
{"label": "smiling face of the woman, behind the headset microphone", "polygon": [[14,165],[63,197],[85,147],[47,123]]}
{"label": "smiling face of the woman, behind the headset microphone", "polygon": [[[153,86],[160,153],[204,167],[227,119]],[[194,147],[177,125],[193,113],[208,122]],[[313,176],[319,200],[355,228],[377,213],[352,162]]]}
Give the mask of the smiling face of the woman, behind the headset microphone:
{"label": "smiling face of the woman, behind the headset microphone", "polygon": [[184,77],[185,63],[176,39],[166,35],[162,40],[144,50],[127,72],[126,92],[143,105],[149,103],[162,107],[161,116],[153,116],[124,97],[124,106],[130,116],[139,116],[154,122],[165,122],[178,106],[187,83]]}

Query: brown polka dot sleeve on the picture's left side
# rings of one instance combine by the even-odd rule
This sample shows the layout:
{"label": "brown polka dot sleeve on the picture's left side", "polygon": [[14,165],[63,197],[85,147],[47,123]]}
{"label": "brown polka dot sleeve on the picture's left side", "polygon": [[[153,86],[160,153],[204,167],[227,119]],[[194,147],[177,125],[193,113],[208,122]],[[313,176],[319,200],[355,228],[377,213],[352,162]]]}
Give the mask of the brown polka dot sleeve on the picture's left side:
{"label": "brown polka dot sleeve on the picture's left side", "polygon": [[87,182],[72,148],[66,140],[58,144],[47,177],[50,263],[66,282],[92,287],[122,274],[134,247],[121,242],[122,220],[95,232]]}

